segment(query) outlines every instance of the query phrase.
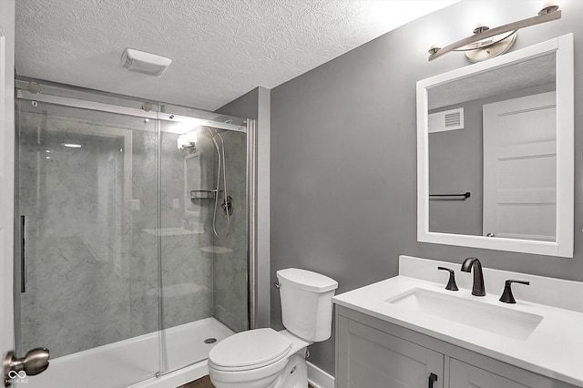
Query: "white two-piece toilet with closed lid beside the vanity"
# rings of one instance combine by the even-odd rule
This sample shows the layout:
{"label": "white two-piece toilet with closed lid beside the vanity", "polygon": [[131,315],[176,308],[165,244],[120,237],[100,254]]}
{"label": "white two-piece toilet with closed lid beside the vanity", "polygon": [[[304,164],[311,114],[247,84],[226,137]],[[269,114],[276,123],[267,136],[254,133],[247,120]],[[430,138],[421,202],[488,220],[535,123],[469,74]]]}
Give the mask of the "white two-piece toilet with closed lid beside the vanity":
{"label": "white two-piece toilet with closed lid beside the vanity", "polygon": [[287,330],[255,329],[219,342],[209,353],[217,388],[306,388],[306,348],[330,338],[338,282],[312,271],[277,271],[281,318]]}

